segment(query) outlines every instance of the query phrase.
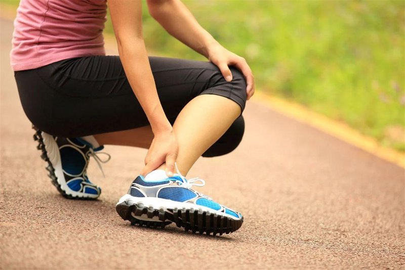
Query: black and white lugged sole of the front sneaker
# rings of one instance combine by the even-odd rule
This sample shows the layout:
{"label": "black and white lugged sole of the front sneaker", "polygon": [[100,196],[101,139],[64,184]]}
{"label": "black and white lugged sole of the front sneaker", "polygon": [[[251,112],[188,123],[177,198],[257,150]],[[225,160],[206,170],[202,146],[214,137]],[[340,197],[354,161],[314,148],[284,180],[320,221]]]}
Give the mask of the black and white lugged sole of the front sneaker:
{"label": "black and white lugged sole of the front sneaker", "polygon": [[[153,206],[145,206],[142,202],[129,205],[124,197],[120,200],[124,201],[118,202],[115,209],[121,218],[129,220],[132,225],[163,229],[167,224],[174,222],[177,227],[184,228],[186,232],[191,231],[193,234],[197,232],[199,234],[206,233],[215,236],[235,232],[242,226],[244,221],[243,217],[233,219],[201,208],[160,207],[156,209]],[[199,205],[190,206],[199,207]]]}

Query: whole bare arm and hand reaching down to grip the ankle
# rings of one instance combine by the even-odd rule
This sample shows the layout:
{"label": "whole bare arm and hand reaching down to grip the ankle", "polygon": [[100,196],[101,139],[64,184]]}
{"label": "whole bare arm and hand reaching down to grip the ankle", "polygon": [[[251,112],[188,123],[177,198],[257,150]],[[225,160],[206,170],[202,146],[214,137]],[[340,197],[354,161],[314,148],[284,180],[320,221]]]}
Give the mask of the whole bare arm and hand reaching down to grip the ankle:
{"label": "whole bare arm and hand reaching down to grip the ankle", "polygon": [[146,166],[141,173],[146,174],[166,162],[167,173],[172,175],[178,146],[172,125],[157,96],[146,53],[142,32],[142,2],[108,0],[108,8],[119,58],[154,134],[152,146],[145,158]]}

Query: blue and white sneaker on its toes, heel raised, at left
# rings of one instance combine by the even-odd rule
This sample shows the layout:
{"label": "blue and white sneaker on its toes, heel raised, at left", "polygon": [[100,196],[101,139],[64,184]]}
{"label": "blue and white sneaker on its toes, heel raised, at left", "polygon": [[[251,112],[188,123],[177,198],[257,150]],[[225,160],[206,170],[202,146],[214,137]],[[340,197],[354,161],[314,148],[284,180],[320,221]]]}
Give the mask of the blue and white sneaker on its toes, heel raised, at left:
{"label": "blue and white sneaker on its toes, heel raised, at left", "polygon": [[[99,162],[105,163],[110,159],[107,153],[99,152],[103,146],[94,148],[87,141],[80,138],[54,137],[44,131],[35,129],[34,140],[38,141],[38,150],[42,151],[41,158],[47,161],[46,169],[52,184],[68,199],[97,199],[101,188],[90,182],[87,167],[91,156]],[[105,154],[107,160],[101,160],[97,154]],[[104,173],[103,173],[104,174]]]}

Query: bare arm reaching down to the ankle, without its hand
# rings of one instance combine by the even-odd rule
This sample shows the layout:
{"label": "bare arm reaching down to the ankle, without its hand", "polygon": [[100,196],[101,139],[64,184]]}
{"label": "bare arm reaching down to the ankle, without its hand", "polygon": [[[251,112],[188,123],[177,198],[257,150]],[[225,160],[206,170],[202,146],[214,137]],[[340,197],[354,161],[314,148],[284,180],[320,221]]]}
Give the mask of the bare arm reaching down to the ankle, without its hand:
{"label": "bare arm reaching down to the ankle, without its hand", "polygon": [[109,0],[108,8],[117,40],[119,58],[152,130],[171,129],[172,126],[157,96],[146,53],[142,32],[141,2]]}

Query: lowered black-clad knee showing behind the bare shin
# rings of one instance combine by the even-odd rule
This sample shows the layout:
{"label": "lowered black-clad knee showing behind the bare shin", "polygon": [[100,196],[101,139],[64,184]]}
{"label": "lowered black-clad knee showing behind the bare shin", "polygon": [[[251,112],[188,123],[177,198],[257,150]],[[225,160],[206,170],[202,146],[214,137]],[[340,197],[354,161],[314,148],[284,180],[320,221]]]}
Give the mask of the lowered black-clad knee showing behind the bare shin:
{"label": "lowered black-clad knee showing behind the bare shin", "polygon": [[245,120],[239,116],[223,134],[204,154],[203,157],[217,157],[228,154],[236,149],[245,133]]}

